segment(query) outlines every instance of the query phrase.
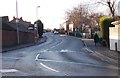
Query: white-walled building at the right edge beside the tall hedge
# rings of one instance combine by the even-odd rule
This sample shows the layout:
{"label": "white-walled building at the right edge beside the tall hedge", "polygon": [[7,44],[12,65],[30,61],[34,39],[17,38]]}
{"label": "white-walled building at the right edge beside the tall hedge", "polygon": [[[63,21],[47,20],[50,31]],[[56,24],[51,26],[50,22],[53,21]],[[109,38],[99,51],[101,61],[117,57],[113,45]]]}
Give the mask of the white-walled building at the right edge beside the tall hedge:
{"label": "white-walled building at the right edge beside the tall hedge", "polygon": [[112,22],[115,27],[109,28],[110,50],[120,51],[120,20]]}

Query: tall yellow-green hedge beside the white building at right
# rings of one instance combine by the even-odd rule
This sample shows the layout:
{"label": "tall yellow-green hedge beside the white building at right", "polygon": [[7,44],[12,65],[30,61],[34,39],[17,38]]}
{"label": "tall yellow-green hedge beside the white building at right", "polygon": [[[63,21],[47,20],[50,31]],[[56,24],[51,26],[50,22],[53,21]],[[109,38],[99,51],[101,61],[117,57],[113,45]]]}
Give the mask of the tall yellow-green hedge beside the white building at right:
{"label": "tall yellow-green hedge beside the white building at right", "polygon": [[100,33],[103,40],[107,42],[109,46],[109,27],[111,22],[114,20],[112,17],[101,17],[100,18]]}

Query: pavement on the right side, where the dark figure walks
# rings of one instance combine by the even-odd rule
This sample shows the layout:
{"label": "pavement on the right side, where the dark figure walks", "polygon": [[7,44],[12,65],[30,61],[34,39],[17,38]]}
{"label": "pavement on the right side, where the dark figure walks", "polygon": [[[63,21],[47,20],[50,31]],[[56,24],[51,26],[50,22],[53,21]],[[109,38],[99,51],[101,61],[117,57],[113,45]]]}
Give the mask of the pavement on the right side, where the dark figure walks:
{"label": "pavement on the right side, where the dark figure walks", "polygon": [[104,47],[97,43],[95,46],[93,39],[81,39],[86,46],[86,49],[89,52],[92,52],[94,56],[98,57],[99,59],[106,61],[108,63],[112,63],[114,65],[118,65],[118,60],[120,59],[120,53],[116,51],[110,50],[108,47]]}

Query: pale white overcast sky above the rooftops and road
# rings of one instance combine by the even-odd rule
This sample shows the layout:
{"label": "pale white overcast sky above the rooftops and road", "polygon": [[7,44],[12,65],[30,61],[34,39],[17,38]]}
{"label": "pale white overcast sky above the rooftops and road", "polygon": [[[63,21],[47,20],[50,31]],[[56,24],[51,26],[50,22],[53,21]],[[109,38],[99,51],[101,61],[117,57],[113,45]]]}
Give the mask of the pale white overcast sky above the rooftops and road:
{"label": "pale white overcast sky above the rooftops and road", "polygon": [[[94,1],[94,0],[93,0]],[[18,17],[34,23],[36,21],[36,7],[38,18],[43,22],[44,28],[59,28],[65,21],[65,12],[81,3],[89,3],[90,0],[17,0]],[[16,0],[0,1],[0,16],[9,16],[9,20],[16,17]]]}

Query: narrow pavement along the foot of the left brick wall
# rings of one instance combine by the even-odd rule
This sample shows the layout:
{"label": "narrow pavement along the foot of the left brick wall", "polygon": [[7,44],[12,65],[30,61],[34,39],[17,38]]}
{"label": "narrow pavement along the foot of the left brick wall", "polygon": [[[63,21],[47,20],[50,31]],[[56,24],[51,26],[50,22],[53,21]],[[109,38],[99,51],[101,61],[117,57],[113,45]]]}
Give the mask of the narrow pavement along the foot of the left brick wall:
{"label": "narrow pavement along the foot of the left brick wall", "polygon": [[28,44],[21,44],[21,45],[17,45],[17,46],[10,47],[10,48],[5,48],[5,49],[2,49],[2,52],[7,52],[7,51],[15,50],[15,49],[20,49],[20,48],[25,48],[25,47],[38,45],[38,44],[41,44],[43,42],[46,42],[46,40],[47,40],[47,37],[43,36],[37,42],[32,42],[32,43],[28,43]]}

